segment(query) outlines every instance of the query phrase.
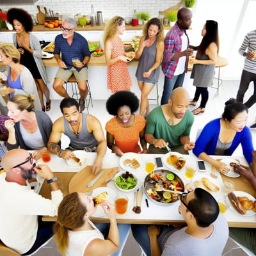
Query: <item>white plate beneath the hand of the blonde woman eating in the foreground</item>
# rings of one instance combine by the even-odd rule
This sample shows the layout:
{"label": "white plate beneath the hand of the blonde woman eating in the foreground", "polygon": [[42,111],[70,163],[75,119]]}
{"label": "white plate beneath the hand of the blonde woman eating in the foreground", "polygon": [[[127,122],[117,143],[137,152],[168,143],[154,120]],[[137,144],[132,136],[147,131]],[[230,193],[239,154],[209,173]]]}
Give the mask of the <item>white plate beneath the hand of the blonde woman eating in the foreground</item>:
{"label": "white plate beneath the hand of the blonde woman eating in the foreground", "polygon": [[[106,191],[108,193],[108,196],[106,197],[106,200],[110,203],[115,205],[115,200],[117,198],[117,193],[115,191],[113,191],[113,189],[108,188],[108,187],[100,187],[100,188],[95,188],[92,191],[92,195],[91,197],[93,198],[94,196],[99,195],[100,193]],[[92,217],[95,218],[100,218],[105,216],[105,212],[102,209],[102,207],[99,205],[97,206],[97,210],[94,212],[94,214],[92,215]]]}

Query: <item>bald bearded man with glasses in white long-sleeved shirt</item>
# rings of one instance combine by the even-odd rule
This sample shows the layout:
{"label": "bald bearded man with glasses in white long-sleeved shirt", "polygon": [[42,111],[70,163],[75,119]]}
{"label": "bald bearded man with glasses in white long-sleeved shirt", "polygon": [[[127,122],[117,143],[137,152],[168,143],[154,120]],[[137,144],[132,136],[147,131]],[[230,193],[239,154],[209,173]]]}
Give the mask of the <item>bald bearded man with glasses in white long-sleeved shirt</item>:
{"label": "bald bearded man with glasses in white long-sleeved shirt", "polygon": [[[21,148],[8,151],[2,159],[5,170],[0,175],[0,239],[20,254],[31,254],[52,236],[53,221],[42,216],[55,216],[62,193],[56,177],[45,164],[36,165],[32,154]],[[35,193],[26,180],[36,175],[47,180],[52,199]]]}

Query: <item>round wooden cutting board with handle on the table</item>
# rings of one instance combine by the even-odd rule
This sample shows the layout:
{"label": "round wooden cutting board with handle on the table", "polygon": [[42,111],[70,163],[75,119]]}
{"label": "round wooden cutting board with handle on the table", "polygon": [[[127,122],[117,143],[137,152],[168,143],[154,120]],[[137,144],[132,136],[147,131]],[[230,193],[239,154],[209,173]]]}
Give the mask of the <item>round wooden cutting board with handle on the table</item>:
{"label": "round wooden cutting board with handle on the table", "polygon": [[[69,182],[68,193],[72,192],[90,192],[95,188],[106,187],[109,180],[113,179],[115,174],[119,171],[119,167],[113,167],[108,169],[102,169],[103,175],[93,184],[91,188],[87,188],[86,185],[97,175],[92,173],[92,166],[86,166],[79,172],[77,172]],[[98,173],[99,174],[99,173]]]}

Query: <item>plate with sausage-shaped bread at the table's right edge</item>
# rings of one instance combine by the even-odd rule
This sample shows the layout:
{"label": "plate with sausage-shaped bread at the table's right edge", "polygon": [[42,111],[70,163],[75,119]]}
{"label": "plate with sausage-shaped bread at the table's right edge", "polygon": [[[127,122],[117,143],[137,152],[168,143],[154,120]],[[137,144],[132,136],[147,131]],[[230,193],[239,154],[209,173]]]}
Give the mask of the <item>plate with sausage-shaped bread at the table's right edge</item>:
{"label": "plate with sausage-shaped bread at the table's right edge", "polygon": [[256,199],[244,192],[233,191],[227,195],[230,209],[239,215],[253,216],[256,214]]}

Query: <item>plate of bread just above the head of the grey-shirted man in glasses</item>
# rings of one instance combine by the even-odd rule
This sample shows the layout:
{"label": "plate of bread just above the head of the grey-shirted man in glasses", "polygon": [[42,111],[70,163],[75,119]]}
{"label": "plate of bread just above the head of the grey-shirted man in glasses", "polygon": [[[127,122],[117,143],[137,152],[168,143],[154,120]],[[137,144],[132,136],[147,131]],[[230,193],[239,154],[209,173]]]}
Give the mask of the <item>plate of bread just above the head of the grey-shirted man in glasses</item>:
{"label": "plate of bread just above the head of the grey-shirted man in glasses", "polygon": [[213,179],[209,175],[198,174],[195,175],[192,179],[192,182],[195,184],[196,188],[202,188],[211,193],[213,196],[220,194],[221,185],[218,180]]}

